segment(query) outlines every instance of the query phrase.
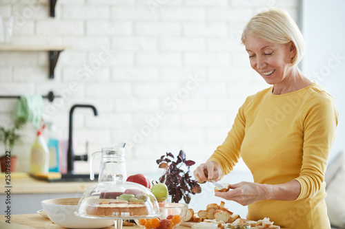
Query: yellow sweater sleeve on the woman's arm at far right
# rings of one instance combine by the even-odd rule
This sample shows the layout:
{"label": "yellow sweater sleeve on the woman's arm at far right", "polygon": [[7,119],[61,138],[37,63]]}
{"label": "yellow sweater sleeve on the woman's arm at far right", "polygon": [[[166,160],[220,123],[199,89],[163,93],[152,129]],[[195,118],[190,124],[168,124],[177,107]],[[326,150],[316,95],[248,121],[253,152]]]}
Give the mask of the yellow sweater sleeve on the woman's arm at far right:
{"label": "yellow sweater sleeve on the woman's arm at far right", "polygon": [[296,178],[301,193],[297,199],[313,197],[321,188],[338,121],[334,100],[325,91],[311,92],[305,107],[302,168]]}

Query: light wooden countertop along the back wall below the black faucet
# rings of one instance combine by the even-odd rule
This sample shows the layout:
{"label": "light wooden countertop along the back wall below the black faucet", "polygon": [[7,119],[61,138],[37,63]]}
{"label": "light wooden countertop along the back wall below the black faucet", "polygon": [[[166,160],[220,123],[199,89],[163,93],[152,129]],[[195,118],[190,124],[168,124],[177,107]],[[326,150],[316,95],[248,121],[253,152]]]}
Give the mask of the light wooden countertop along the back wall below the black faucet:
{"label": "light wooden countertop along the back wall below the black faucet", "polygon": [[[5,178],[0,178],[5,186]],[[83,193],[96,182],[46,182],[28,175],[12,175],[10,180],[12,194],[24,193]],[[6,193],[1,193],[6,194]]]}

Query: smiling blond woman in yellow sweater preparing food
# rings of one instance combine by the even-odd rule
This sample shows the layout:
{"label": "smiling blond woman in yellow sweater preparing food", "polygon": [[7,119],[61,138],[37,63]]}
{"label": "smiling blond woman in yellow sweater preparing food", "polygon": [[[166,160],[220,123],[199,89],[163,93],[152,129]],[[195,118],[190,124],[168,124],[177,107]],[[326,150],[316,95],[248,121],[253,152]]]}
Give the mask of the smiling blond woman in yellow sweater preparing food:
{"label": "smiling blond woman in yellow sweater preparing food", "polygon": [[248,205],[251,220],[270,217],[286,228],[331,228],[324,173],[337,127],[335,102],[297,67],[304,41],[283,10],[250,19],[242,43],[250,66],[273,86],[248,96],[226,140],[197,167],[195,178],[217,181],[242,157],[254,183],[232,184],[217,197]]}

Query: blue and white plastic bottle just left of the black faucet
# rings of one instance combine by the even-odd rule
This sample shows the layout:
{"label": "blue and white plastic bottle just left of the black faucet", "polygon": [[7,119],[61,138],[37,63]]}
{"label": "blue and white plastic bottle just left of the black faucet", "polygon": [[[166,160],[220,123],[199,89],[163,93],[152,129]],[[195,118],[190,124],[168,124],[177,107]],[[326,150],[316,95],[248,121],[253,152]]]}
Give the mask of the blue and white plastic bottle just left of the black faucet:
{"label": "blue and white plastic bottle just left of the black faucet", "polygon": [[50,122],[48,131],[49,171],[59,172],[59,140],[57,138],[57,126],[53,122]]}

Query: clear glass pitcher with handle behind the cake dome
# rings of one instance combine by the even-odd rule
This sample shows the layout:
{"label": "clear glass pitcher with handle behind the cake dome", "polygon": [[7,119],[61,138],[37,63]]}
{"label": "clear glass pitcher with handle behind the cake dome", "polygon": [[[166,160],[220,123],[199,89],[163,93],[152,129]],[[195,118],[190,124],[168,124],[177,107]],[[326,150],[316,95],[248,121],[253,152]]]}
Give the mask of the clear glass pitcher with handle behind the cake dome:
{"label": "clear glass pitcher with handle behind the cake dome", "polygon": [[101,151],[92,153],[90,160],[90,179],[95,179],[95,155],[101,153],[101,166],[99,167],[98,182],[125,182],[127,179],[125,162],[125,144],[104,147]]}

